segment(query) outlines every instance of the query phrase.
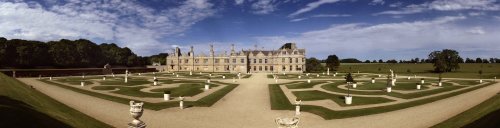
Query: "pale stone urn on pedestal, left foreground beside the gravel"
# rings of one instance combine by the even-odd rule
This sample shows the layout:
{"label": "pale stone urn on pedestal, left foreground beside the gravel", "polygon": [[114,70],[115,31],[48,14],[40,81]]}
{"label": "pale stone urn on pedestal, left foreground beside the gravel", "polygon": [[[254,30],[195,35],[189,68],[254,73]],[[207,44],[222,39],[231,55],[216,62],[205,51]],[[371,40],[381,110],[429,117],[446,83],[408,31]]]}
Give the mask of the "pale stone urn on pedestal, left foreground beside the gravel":
{"label": "pale stone urn on pedestal, left foreground beside the gravel", "polygon": [[134,101],[130,101],[130,115],[132,115],[132,118],[134,118],[134,120],[132,120],[132,122],[128,124],[129,128],[145,128],[146,127],[146,123],[139,120],[139,118],[141,118],[142,113],[144,111],[144,109],[142,109],[142,105],[144,105],[144,103],[142,103],[142,102],[135,103]]}

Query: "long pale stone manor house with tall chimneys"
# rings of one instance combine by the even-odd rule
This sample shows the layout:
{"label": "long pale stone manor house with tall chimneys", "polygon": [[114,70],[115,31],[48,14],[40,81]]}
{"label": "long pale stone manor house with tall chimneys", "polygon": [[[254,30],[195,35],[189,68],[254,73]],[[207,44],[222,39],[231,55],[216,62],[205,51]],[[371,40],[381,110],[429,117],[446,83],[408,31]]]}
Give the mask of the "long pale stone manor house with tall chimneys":
{"label": "long pale stone manor house with tall chimneys", "polygon": [[167,57],[166,71],[193,72],[265,72],[265,73],[302,73],[306,70],[306,50],[299,49],[295,43],[286,43],[278,50],[241,50],[235,51],[231,45],[229,54],[215,55],[210,45],[210,55],[194,55],[193,46],[183,54],[179,47]]}

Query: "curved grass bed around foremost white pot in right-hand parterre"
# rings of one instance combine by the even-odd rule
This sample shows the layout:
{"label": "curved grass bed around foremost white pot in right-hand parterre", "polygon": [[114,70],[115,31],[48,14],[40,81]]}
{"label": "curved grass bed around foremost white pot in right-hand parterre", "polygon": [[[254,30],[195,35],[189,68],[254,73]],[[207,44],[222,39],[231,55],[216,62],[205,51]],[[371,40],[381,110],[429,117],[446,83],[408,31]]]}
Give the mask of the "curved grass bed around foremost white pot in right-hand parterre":
{"label": "curved grass bed around foremost white pot in right-hand parterre", "polygon": [[345,95],[335,95],[322,91],[294,91],[292,92],[299,100],[303,101],[313,101],[313,100],[324,100],[330,99],[333,102],[339,104],[340,106],[356,106],[356,105],[367,105],[367,104],[378,104],[378,103],[386,103],[394,100],[382,98],[382,97],[361,97],[361,96],[352,96],[352,104],[345,104]]}

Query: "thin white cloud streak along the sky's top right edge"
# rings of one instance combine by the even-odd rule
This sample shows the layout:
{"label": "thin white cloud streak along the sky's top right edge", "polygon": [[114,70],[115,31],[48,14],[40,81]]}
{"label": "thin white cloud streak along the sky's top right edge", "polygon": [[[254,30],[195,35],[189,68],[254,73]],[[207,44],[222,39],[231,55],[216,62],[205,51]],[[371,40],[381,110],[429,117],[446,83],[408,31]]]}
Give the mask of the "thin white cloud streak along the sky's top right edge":
{"label": "thin white cloud streak along the sky's top right edge", "polygon": [[498,11],[500,5],[496,0],[436,0],[425,2],[419,5],[408,5],[400,10],[390,10],[375,13],[374,15],[383,14],[414,14],[425,11],[458,11],[458,10],[478,10],[478,11]]}

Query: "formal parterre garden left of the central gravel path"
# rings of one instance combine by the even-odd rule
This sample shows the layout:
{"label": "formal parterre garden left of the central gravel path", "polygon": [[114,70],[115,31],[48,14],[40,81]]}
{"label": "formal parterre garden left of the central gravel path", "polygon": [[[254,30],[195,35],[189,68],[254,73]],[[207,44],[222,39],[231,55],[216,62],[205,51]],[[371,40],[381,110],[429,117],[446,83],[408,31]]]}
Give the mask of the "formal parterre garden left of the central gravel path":
{"label": "formal parterre garden left of the central gravel path", "polygon": [[[127,73],[127,75],[49,76],[39,77],[37,80],[127,105],[131,100],[144,102],[146,109],[161,110],[171,107],[209,107],[238,86],[232,82],[250,76],[251,74],[152,72]],[[229,83],[217,81],[230,78],[232,82]],[[180,101],[183,102],[182,106]]]}

